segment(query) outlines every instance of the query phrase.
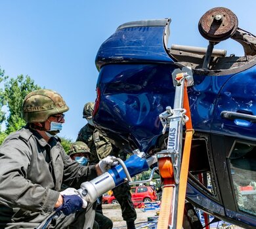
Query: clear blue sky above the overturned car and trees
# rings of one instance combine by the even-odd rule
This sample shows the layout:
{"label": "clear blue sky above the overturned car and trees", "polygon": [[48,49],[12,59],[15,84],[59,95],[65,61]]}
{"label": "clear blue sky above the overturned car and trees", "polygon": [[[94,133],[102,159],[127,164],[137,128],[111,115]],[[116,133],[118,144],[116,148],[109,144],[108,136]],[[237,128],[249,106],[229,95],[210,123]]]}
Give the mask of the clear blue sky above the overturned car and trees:
{"label": "clear blue sky above the overturned car and trees", "polygon": [[[83,105],[96,97],[96,52],[119,25],[171,18],[169,46],[206,47],[198,22],[213,7],[232,10],[238,26],[256,34],[254,0],[1,0],[0,66],[10,77],[29,75],[39,86],[59,92],[70,107],[60,136],[75,141],[86,124]],[[232,40],[216,48],[243,54]]]}

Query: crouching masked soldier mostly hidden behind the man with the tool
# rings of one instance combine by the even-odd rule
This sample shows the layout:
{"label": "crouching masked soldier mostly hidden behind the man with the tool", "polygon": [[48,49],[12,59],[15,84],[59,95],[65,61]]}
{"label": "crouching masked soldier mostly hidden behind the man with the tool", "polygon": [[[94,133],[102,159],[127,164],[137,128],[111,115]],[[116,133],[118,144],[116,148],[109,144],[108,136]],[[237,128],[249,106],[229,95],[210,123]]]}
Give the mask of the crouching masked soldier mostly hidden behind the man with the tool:
{"label": "crouching masked soldier mostly hidden behind the man with the tool", "polygon": [[[83,141],[76,141],[70,147],[68,155],[72,160],[77,161],[81,166],[87,166],[89,162],[89,156],[91,155],[89,147]],[[95,203],[96,204],[96,203]],[[108,217],[102,215],[102,213],[95,213],[95,222],[93,229],[112,229],[113,222]]]}

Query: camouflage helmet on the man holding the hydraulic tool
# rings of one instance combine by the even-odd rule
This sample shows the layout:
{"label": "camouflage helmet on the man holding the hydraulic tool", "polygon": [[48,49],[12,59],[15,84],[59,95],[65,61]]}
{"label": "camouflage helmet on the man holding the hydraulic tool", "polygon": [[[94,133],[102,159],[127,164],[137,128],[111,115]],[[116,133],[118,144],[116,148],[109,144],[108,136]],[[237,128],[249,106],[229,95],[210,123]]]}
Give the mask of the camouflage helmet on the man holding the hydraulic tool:
{"label": "camouflage helmet on the man holding the hydraulic tool", "polygon": [[51,115],[68,111],[64,99],[53,90],[42,89],[30,92],[22,105],[22,116],[26,122],[45,122]]}

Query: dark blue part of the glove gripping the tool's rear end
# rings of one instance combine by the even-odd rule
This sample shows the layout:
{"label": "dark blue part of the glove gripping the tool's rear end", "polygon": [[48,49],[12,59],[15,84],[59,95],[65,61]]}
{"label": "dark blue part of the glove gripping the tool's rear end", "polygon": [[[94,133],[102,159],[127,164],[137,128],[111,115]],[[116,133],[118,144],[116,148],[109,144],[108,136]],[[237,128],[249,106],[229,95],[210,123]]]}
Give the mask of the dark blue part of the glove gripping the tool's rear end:
{"label": "dark blue part of the glove gripping the tool's rear end", "polygon": [[64,215],[70,215],[81,209],[83,206],[83,200],[77,195],[62,195],[63,204],[56,209],[56,211],[62,211]]}

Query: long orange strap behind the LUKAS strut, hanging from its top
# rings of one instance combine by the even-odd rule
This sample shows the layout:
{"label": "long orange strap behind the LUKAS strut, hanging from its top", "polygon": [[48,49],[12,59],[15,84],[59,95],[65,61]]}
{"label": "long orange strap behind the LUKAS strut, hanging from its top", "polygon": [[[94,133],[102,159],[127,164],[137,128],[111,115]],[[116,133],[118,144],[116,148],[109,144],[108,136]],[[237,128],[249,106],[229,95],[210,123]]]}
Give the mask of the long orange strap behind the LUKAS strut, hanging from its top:
{"label": "long orange strap behind the LUKAS strut, hanging from its top", "polygon": [[184,142],[184,150],[181,162],[181,174],[179,183],[179,198],[178,198],[178,209],[177,209],[177,229],[182,228],[183,215],[184,215],[184,205],[186,198],[186,183],[188,181],[188,166],[190,158],[191,143],[194,130],[192,129],[192,121],[190,115],[190,108],[188,102],[188,92],[186,90],[186,85],[184,88],[184,109],[186,109],[186,116],[189,120],[186,122],[186,137]]}

